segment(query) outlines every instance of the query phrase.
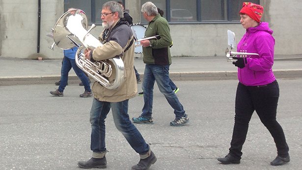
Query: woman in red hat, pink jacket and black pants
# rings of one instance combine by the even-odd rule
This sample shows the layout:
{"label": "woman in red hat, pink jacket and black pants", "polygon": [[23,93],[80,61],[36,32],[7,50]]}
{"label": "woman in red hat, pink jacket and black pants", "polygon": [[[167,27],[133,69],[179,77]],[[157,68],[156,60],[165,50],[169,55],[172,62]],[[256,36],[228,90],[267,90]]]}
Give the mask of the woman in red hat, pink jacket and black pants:
{"label": "woman in red hat, pink jacket and black pants", "polygon": [[233,57],[238,67],[238,87],[235,100],[235,124],[229,154],[218,158],[222,164],[239,164],[242,146],[247,137],[248,123],[254,111],[274,138],[277,157],[271,165],[290,161],[282,127],[276,121],[279,86],[272,71],[275,39],[268,23],[261,22],[263,7],[244,2],[240,11],[241,24],[247,29],[238,43],[237,51],[258,53],[245,58]]}

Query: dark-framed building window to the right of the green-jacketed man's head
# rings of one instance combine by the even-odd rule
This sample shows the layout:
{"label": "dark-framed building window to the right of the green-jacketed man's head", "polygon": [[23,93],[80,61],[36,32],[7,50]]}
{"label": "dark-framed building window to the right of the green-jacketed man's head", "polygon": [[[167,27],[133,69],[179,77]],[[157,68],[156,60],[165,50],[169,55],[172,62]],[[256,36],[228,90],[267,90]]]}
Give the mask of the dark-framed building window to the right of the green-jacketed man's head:
{"label": "dark-framed building window to the right of the green-jacketed man's head", "polygon": [[[140,0],[142,5],[149,0]],[[164,12],[170,11],[164,18],[170,23],[226,23],[239,22],[239,11],[247,0],[152,0]],[[248,0],[259,4],[260,0]],[[141,22],[147,21],[141,15]]]}

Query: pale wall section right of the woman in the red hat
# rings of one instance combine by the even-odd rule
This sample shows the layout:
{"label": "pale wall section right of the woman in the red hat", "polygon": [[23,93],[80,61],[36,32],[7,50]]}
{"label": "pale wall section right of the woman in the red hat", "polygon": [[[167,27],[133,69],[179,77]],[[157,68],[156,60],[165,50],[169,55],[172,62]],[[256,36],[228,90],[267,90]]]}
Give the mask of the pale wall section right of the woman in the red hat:
{"label": "pale wall section right of the woman in the red hat", "polygon": [[302,1],[268,0],[267,2],[270,2],[268,22],[274,31],[275,54],[302,54]]}

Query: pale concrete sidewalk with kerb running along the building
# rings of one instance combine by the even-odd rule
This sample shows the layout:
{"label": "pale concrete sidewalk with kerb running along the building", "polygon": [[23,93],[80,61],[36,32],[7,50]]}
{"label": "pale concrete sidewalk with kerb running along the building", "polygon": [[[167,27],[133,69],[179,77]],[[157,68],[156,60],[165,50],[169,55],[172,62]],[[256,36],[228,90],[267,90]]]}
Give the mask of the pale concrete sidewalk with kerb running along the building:
{"label": "pale concrete sidewalk with kerb running along the building", "polygon": [[[60,79],[61,59],[28,60],[0,57],[0,85],[54,83]],[[141,76],[145,64],[135,58],[135,67]],[[273,66],[277,78],[302,77],[301,55],[277,55]],[[174,79],[236,79],[237,67],[226,62],[225,56],[172,57],[170,77]],[[77,80],[74,71],[69,80]]]}

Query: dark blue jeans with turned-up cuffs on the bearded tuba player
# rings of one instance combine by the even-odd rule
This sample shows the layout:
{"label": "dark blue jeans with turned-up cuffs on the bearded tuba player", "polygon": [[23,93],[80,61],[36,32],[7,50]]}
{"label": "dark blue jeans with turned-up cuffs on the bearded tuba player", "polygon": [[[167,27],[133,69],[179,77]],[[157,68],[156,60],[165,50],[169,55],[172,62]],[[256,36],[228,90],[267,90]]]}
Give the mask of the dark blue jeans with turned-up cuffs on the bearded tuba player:
{"label": "dark blue jeans with turned-up cuffs on the bearded tuba player", "polygon": [[112,108],[113,121],[116,128],[124,135],[128,143],[138,154],[146,154],[149,145],[146,144],[136,126],[130,121],[128,115],[128,101],[105,102],[93,98],[90,123],[91,123],[91,145],[93,152],[101,153],[106,151],[105,145],[105,119]]}

